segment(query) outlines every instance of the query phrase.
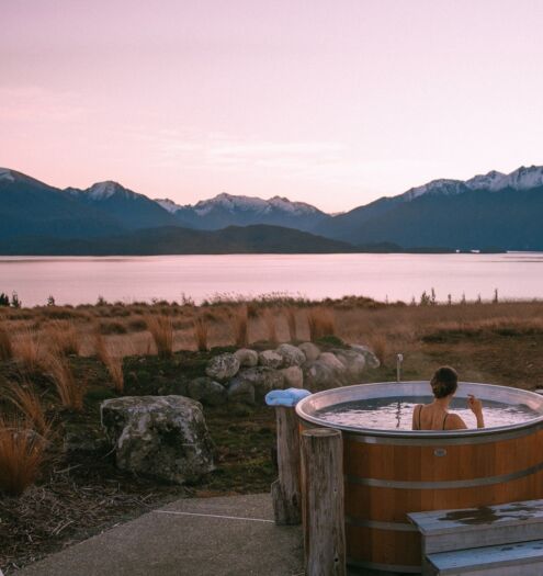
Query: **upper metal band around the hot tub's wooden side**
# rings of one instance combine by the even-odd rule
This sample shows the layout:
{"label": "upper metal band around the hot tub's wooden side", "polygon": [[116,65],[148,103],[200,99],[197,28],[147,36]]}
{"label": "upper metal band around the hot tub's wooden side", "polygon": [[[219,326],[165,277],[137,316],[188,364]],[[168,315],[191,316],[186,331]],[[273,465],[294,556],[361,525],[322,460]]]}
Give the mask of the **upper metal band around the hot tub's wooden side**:
{"label": "upper metal band around the hot tub's wooden side", "polygon": [[475,486],[488,486],[490,484],[502,484],[514,479],[531,476],[543,470],[543,462],[530,466],[529,468],[501,474],[499,476],[483,476],[480,478],[461,479],[461,481],[435,481],[435,482],[417,482],[417,481],[387,481],[380,478],[360,478],[359,476],[347,475],[346,482],[350,484],[362,484],[363,486],[374,486],[377,488],[399,488],[406,490],[412,489],[448,489],[448,488],[473,488]]}

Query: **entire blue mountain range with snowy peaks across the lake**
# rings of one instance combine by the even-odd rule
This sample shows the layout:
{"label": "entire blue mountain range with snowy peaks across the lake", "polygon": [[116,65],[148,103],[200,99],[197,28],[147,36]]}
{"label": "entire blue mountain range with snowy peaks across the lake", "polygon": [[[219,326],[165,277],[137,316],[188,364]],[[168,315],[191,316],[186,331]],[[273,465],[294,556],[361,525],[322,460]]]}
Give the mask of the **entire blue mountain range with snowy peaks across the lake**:
{"label": "entire blue mountain range with snowy peaks across the lake", "polygon": [[286,197],[194,205],[105,181],[58,189],[0,168],[0,253],[543,250],[543,167],[433,180],[331,215]]}

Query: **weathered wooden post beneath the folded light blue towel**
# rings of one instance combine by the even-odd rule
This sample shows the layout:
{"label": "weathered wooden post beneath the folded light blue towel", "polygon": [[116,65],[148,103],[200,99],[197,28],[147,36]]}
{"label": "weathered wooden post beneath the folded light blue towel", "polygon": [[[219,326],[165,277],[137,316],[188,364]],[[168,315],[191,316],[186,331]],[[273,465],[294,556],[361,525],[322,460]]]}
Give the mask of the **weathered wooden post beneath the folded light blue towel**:
{"label": "weathered wooden post beneath the folded light blue towel", "polygon": [[271,485],[276,524],[299,524],[302,496],[299,494],[299,431],[294,408],[275,408],[278,425],[279,479]]}

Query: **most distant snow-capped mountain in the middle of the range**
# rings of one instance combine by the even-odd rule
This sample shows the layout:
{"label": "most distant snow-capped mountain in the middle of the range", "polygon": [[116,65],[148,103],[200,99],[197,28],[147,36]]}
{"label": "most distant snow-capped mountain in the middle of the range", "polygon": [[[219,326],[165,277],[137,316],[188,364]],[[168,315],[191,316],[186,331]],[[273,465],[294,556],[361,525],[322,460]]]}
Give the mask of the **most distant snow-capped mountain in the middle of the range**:
{"label": "most distant snow-capped mountain in the middle of the range", "polygon": [[330,217],[305,202],[291,202],[286,197],[273,196],[263,200],[222,193],[194,205],[181,206],[169,199],[156,202],[183,225],[199,229],[219,229],[226,226],[248,226],[252,224],[273,224],[310,230],[321,221]]}

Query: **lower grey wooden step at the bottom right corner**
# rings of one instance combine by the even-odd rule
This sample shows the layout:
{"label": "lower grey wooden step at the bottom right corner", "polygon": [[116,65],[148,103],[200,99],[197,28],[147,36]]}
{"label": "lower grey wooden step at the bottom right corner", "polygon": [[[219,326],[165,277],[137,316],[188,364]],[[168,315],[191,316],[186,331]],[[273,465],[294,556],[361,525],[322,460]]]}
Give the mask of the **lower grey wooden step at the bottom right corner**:
{"label": "lower grey wooden step at the bottom right corner", "polygon": [[435,576],[538,576],[543,574],[543,540],[441,552],[427,560],[426,574]]}

